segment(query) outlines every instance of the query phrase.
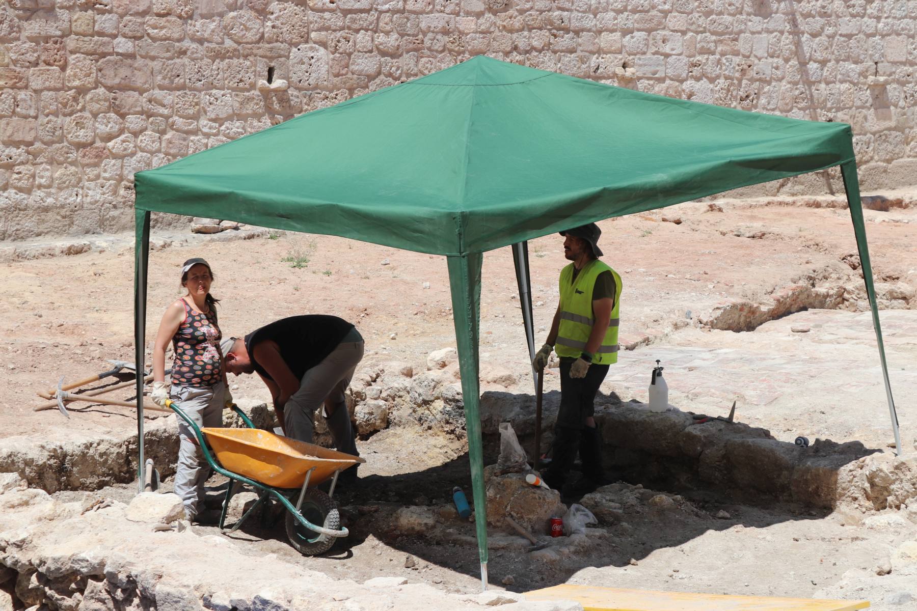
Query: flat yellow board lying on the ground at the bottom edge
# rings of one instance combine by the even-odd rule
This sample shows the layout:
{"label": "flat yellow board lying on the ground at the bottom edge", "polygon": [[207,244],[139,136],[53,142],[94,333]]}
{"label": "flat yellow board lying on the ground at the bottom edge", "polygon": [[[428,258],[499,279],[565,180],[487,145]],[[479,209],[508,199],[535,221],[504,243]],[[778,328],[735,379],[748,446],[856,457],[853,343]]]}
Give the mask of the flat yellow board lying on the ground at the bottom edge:
{"label": "flat yellow board lying on the ground at the bottom edge", "polygon": [[526,600],[575,600],[585,611],[854,611],[867,600],[824,600],[626,590],[561,584],[525,593]]}

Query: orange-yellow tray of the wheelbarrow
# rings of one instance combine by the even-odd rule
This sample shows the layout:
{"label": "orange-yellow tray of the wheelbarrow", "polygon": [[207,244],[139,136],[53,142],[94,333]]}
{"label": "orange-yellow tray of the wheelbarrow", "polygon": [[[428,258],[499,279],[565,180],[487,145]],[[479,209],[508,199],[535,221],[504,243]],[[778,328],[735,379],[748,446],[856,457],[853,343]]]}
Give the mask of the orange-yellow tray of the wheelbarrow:
{"label": "orange-yellow tray of the wheelbarrow", "polygon": [[321,484],[337,470],[366,462],[359,456],[260,429],[204,428],[201,431],[224,469],[275,488],[303,486],[306,472],[313,467],[310,487]]}

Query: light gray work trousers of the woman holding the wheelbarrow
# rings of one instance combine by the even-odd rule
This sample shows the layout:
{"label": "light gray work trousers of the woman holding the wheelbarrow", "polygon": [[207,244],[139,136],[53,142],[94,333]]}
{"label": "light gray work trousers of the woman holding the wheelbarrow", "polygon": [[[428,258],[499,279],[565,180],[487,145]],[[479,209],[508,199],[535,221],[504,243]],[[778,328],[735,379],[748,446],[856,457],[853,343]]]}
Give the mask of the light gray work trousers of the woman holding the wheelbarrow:
{"label": "light gray work trousers of the woman holding the wheelbarrow", "polygon": [[[170,397],[199,428],[223,426],[223,405],[226,384],[212,387],[173,386]],[[194,431],[187,422],[178,419],[178,466],[175,470],[175,494],[182,498],[188,518],[204,510],[204,482],[210,477],[210,466],[197,445]],[[192,441],[193,440],[193,441]]]}

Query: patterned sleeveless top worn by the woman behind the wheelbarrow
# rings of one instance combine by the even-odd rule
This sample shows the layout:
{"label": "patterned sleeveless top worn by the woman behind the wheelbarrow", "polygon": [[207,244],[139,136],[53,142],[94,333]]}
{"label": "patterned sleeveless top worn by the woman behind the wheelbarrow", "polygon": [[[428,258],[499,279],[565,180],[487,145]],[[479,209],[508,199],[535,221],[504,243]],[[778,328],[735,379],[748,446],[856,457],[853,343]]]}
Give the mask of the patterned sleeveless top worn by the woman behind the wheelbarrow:
{"label": "patterned sleeveless top worn by the woman behind the wheelbarrow", "polygon": [[[222,379],[220,353],[217,351],[220,339],[216,310],[210,313],[195,312],[182,300],[184,320],[172,336],[175,361],[172,364],[171,383],[190,387],[214,386]],[[211,322],[213,319],[213,322]]]}

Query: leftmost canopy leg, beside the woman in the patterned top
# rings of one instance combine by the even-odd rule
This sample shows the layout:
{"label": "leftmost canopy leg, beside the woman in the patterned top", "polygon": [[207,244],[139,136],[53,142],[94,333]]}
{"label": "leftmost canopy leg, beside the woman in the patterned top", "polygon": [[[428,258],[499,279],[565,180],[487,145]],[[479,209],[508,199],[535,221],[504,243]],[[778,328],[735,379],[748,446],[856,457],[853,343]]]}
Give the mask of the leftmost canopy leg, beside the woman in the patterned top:
{"label": "leftmost canopy leg, beside the woman in the patterned top", "polygon": [[149,268],[149,212],[134,210],[134,365],[137,367],[137,475],[138,492],[143,492],[143,371],[146,348],[147,270]]}

